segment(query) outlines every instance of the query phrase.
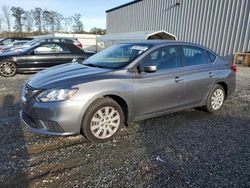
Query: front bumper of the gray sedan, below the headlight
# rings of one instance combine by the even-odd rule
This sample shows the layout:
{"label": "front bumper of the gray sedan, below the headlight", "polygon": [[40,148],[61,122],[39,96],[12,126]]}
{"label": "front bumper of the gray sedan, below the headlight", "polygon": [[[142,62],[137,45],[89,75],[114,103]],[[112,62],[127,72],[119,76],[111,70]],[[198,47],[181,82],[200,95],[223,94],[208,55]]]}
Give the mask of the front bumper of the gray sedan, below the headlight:
{"label": "front bumper of the gray sedan, below the headlight", "polygon": [[84,105],[81,101],[20,104],[21,120],[32,132],[57,136],[80,133]]}

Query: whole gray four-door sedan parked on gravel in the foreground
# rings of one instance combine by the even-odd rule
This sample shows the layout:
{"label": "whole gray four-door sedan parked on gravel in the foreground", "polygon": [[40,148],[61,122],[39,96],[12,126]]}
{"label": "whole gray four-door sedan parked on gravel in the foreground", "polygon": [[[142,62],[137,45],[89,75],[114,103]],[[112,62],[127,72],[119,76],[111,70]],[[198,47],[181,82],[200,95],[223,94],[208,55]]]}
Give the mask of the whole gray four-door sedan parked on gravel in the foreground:
{"label": "whole gray four-door sedan parked on gravel in the foreground", "polygon": [[20,114],[33,132],[106,142],[134,120],[195,107],[219,111],[235,90],[236,70],[191,43],[118,44],[34,75],[23,85]]}

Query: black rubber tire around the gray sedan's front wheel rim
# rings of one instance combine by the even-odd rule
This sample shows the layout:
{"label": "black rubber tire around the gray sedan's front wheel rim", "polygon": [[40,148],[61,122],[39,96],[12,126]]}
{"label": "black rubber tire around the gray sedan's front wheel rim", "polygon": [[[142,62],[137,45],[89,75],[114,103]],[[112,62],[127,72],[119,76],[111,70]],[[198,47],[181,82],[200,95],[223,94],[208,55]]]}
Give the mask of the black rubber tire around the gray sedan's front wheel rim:
{"label": "black rubber tire around the gray sedan's front wheel rim", "polygon": [[[105,107],[108,107],[108,108],[110,107],[109,112],[111,111],[112,108],[115,109],[116,116],[118,116],[117,113],[119,113],[120,121],[116,122],[117,128],[112,127],[112,125],[109,124],[109,122],[106,122],[106,124],[105,124],[105,122],[103,122],[103,121],[107,121],[107,120],[104,120],[105,118],[103,118],[103,119],[100,118],[100,120],[102,119],[102,121],[99,122],[98,124],[102,124],[102,125],[93,125],[94,122],[92,121],[92,118],[94,119],[95,117],[97,117],[96,116],[96,115],[98,115],[97,112],[98,111],[100,112],[100,110],[104,109]],[[106,117],[106,116],[104,116],[104,117]],[[104,143],[104,142],[107,142],[109,140],[112,140],[117,135],[117,133],[119,132],[119,130],[121,129],[123,124],[124,124],[124,114],[123,114],[123,110],[122,110],[121,106],[113,99],[111,99],[109,97],[105,97],[105,98],[97,99],[94,103],[92,103],[90,105],[90,107],[87,109],[87,111],[85,112],[85,115],[83,117],[81,128],[82,128],[84,136],[89,141],[91,141],[93,143]],[[100,132],[100,133],[102,133],[103,135],[105,132],[104,129],[107,129],[107,126],[108,126],[108,128],[111,128],[111,129],[114,128],[115,131],[112,135],[108,135],[109,137],[107,137],[107,138],[98,138],[97,136],[94,135],[93,132],[95,132],[95,134],[97,134],[99,129],[95,129],[96,131],[91,130],[91,127],[93,128],[94,126],[103,126],[103,127],[99,128],[99,129],[102,129],[103,132]],[[102,134],[100,134],[100,133],[99,133],[99,136],[102,136]],[[108,133],[109,133],[109,131],[108,131]],[[106,134],[107,134],[107,130],[106,130]]]}

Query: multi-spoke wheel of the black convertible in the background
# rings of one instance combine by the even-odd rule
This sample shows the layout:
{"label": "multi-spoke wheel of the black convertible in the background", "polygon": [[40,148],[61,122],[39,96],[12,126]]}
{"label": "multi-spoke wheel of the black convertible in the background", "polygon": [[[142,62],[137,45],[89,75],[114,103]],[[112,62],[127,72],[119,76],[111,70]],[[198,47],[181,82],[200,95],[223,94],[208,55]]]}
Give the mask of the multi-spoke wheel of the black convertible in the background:
{"label": "multi-spoke wheel of the black convertible in the background", "polygon": [[4,77],[11,77],[16,75],[17,73],[17,66],[12,61],[2,61],[0,63],[0,74]]}

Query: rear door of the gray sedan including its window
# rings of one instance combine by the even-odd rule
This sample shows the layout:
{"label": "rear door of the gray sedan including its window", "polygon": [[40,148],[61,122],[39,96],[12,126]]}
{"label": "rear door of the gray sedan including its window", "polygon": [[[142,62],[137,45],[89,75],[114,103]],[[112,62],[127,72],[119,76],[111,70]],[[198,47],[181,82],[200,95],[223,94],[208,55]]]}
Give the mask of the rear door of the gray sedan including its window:
{"label": "rear door of the gray sedan including its window", "polygon": [[183,65],[186,82],[186,105],[199,105],[209,94],[214,79],[212,64],[206,50],[194,46],[182,46]]}

